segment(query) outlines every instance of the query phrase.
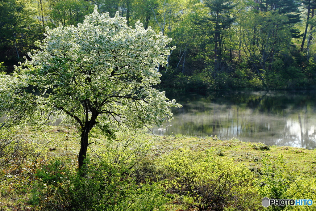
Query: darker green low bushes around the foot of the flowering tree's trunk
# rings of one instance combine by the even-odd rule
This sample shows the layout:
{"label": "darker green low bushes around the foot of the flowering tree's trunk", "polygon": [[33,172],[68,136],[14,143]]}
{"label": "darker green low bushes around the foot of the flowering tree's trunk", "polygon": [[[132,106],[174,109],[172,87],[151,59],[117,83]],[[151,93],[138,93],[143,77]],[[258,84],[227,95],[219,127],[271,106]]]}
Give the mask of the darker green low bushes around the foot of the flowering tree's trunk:
{"label": "darker green low bushes around the foot of the flowering tree's trunk", "polygon": [[[82,177],[84,175],[84,177]],[[29,203],[38,210],[153,210],[167,202],[157,183],[136,183],[124,165],[89,161],[78,172],[54,160],[35,174]]]}

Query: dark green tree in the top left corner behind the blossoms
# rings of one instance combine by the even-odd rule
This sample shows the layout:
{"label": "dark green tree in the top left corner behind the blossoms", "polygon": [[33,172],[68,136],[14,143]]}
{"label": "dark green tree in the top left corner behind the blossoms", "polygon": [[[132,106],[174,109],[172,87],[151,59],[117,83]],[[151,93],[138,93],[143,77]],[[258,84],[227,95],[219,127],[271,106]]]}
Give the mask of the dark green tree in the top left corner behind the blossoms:
{"label": "dark green tree in the top left corner behind the blossoms", "polygon": [[39,38],[32,5],[24,0],[0,1],[0,62],[13,71]]}

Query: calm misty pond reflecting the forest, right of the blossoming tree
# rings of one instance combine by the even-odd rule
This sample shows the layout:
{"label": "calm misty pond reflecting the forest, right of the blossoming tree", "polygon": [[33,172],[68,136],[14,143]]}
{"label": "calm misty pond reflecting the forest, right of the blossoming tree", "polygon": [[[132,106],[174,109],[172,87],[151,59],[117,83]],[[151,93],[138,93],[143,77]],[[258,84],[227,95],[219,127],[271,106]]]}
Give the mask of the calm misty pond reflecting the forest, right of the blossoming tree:
{"label": "calm misty pond reflecting the forest, right of the blossoming tree", "polygon": [[156,135],[217,136],[221,140],[316,148],[316,91],[169,93],[182,108]]}

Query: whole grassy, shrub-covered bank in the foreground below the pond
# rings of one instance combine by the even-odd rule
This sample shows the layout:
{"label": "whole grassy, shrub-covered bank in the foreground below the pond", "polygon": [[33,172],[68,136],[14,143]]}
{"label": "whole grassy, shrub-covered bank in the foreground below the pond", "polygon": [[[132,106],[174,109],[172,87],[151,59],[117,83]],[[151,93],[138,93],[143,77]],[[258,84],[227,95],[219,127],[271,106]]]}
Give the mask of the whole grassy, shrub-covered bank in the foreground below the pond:
{"label": "whole grassy, shrub-covered bank in the foreground below the pond", "polygon": [[83,179],[74,128],[4,132],[2,143],[11,142],[0,147],[0,210],[264,210],[264,196],[316,202],[315,150],[95,133]]}

